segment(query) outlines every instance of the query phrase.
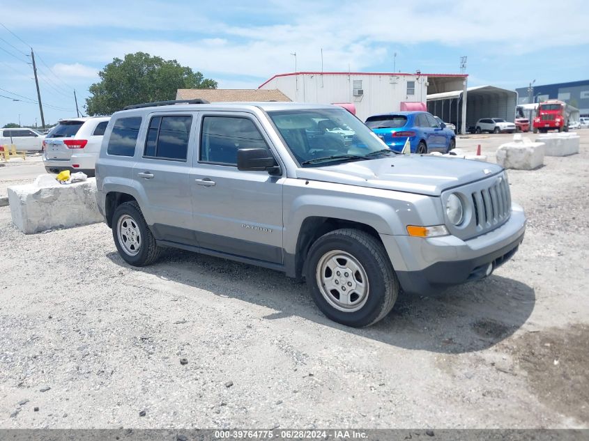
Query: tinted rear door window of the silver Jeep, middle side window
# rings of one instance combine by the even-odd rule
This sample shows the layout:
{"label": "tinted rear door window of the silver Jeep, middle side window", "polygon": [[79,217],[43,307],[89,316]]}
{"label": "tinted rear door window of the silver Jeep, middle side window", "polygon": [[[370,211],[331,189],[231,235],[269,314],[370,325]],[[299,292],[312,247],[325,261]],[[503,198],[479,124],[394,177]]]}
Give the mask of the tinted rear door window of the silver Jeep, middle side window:
{"label": "tinted rear door window of the silver Jeep, middle side window", "polygon": [[185,161],[192,116],[155,116],[149,122],[144,157]]}

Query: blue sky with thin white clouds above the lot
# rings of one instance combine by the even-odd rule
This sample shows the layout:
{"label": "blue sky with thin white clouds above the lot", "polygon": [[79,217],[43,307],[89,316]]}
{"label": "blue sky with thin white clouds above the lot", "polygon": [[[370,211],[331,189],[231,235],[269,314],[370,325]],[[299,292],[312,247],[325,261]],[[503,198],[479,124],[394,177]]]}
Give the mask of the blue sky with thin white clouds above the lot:
{"label": "blue sky with thin white clouds above the lot", "polygon": [[326,72],[459,73],[467,56],[469,86],[589,79],[586,0],[0,0],[0,11],[0,127],[40,125],[31,47],[47,124],[76,116],[74,90],[84,114],[98,72],[138,51],[219,88],[257,88],[295,61],[321,70],[321,49]]}

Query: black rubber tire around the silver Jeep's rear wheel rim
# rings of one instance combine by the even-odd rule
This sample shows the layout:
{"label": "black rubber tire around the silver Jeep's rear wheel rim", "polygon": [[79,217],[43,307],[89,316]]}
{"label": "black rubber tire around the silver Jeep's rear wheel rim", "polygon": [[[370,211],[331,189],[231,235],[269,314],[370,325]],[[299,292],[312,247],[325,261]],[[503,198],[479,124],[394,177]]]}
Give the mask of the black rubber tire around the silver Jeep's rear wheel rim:
{"label": "black rubber tire around the silver Jeep's rear wheel rim", "polygon": [[[122,217],[127,217],[127,220],[129,218],[132,219],[132,222],[135,224],[133,228],[139,231],[140,242],[139,245],[135,247],[137,254],[130,254],[125,250],[123,245],[121,245],[121,240],[119,240],[118,236],[120,230],[119,219]],[[129,226],[132,226],[132,222],[130,222]],[[114,245],[116,245],[118,254],[120,254],[123,260],[130,265],[150,265],[155,262],[160,255],[160,247],[156,244],[155,238],[145,222],[143,213],[141,213],[139,204],[135,201],[121,203],[121,205],[114,210],[114,215],[112,216],[112,237],[114,238]]]}

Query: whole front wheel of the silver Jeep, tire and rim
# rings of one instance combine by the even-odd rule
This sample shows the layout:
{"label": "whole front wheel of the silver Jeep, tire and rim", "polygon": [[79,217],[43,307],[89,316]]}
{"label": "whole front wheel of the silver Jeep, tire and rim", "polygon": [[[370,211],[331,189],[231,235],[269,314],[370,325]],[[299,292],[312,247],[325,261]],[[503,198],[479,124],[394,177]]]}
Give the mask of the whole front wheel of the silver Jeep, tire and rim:
{"label": "whole front wheel of the silver Jeep, tire and rim", "polygon": [[399,295],[382,243],[356,229],[331,231],[316,240],[307,254],[305,278],[321,312],[351,327],[378,322]]}

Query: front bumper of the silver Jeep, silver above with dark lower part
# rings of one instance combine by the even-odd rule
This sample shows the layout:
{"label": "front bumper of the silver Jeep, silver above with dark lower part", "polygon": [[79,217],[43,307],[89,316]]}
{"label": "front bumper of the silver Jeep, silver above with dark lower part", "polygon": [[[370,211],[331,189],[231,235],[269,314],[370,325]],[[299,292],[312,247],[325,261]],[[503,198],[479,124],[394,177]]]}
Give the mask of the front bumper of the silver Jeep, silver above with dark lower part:
{"label": "front bumper of the silver Jeep, silver above with dark lower part", "polygon": [[[526,217],[514,204],[505,224],[477,238],[388,236],[383,242],[403,290],[424,294],[487,277],[517,252],[525,230]],[[395,238],[394,246],[391,238]]]}

